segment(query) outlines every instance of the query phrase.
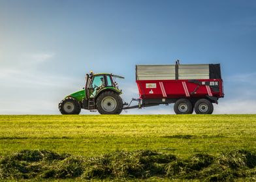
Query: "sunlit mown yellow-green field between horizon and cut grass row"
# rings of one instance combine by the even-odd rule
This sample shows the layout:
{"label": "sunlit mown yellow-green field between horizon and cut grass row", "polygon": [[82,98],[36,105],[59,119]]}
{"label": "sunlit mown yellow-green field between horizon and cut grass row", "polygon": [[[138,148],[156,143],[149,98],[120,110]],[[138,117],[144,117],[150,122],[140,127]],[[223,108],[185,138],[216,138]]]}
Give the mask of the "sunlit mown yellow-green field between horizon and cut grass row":
{"label": "sunlit mown yellow-green field between horizon and cut grass row", "polygon": [[76,157],[147,149],[179,159],[255,152],[256,115],[0,116],[0,156],[22,149]]}

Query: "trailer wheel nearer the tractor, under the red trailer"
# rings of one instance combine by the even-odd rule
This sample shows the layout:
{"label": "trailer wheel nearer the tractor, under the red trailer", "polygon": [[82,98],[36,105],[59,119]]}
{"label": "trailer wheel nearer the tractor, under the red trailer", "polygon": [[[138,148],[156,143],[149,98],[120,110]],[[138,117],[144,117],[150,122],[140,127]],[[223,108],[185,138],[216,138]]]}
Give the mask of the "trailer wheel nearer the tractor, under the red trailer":
{"label": "trailer wheel nearer the tractor, under the red trailer", "polygon": [[193,106],[188,99],[178,99],[174,103],[174,112],[176,114],[192,114]]}

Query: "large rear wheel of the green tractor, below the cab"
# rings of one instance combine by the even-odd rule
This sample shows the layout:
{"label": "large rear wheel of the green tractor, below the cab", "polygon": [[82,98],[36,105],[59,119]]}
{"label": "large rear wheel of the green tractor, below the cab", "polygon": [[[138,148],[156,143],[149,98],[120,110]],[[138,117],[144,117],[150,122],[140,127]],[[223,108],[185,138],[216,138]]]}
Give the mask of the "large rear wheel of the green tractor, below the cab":
{"label": "large rear wheel of the green tractor, below the cab", "polygon": [[115,92],[106,91],[97,98],[96,106],[100,114],[120,114],[123,101]]}

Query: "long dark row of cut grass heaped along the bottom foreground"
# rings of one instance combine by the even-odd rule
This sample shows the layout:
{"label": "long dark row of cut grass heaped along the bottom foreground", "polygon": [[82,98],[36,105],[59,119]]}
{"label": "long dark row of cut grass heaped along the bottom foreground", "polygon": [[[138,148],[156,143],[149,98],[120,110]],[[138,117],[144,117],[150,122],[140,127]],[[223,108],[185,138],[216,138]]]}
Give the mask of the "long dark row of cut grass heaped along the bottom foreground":
{"label": "long dark row of cut grass heaped along the bottom foreground", "polygon": [[0,179],[199,179],[234,181],[256,177],[256,155],[243,149],[219,157],[196,153],[178,159],[151,150],[115,151],[75,157],[46,150],[22,150],[0,158]]}

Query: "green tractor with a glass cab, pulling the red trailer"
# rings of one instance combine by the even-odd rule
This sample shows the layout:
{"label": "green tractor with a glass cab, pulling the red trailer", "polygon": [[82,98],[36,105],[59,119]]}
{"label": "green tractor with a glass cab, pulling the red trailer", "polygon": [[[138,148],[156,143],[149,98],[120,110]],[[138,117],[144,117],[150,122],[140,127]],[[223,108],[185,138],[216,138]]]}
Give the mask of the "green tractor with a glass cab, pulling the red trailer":
{"label": "green tractor with a glass cab, pulling the red trailer", "polygon": [[81,109],[96,111],[100,114],[120,114],[123,100],[120,98],[116,78],[124,79],[110,73],[86,75],[86,87],[65,97],[59,103],[61,114],[79,114]]}

